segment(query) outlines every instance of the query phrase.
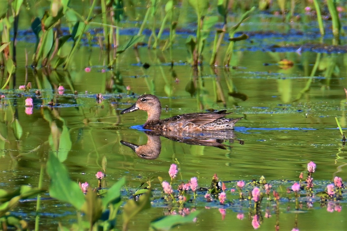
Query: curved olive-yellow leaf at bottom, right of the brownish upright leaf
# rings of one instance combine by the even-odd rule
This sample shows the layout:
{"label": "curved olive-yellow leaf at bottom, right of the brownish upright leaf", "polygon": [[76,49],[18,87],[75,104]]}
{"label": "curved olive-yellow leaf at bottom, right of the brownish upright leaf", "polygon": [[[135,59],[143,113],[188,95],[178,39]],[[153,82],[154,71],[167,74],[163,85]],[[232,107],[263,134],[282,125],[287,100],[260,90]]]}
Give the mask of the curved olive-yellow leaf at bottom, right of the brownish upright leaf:
{"label": "curved olive-yellow leaf at bottom, right of the brownish upright leaf", "polygon": [[142,194],[137,201],[129,199],[123,207],[123,230],[127,229],[129,221],[139,212],[151,207],[151,190]]}

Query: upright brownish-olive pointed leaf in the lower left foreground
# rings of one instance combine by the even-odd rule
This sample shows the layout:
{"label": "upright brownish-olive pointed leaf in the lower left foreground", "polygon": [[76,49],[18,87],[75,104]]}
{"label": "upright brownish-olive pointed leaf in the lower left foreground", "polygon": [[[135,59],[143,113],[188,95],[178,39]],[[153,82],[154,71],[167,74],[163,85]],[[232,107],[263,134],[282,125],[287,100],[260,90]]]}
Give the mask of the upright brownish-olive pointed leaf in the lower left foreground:
{"label": "upright brownish-olive pointed leaf in the lower left foreground", "polygon": [[81,211],[85,213],[91,226],[93,226],[102,214],[101,199],[98,198],[98,194],[96,194],[91,187],[88,187],[85,199]]}

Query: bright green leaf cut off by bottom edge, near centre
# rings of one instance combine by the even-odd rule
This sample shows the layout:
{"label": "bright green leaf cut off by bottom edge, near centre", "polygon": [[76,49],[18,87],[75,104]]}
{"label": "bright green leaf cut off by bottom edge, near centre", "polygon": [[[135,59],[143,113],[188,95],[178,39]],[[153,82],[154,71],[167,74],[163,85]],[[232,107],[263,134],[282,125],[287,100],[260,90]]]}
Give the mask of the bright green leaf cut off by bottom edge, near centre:
{"label": "bright green leaf cut off by bottom edge, near centre", "polygon": [[200,213],[200,211],[194,211],[186,216],[181,215],[168,215],[162,216],[154,221],[151,221],[151,230],[170,230],[173,227],[185,223],[193,222],[193,219]]}

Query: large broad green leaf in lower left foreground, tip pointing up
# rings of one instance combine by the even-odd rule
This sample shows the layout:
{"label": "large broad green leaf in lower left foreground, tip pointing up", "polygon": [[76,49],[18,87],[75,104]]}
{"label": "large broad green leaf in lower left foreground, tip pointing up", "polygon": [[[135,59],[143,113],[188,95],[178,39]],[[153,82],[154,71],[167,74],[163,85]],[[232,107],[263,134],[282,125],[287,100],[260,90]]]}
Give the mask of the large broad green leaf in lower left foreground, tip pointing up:
{"label": "large broad green leaf in lower left foreground, tip pointing up", "polygon": [[84,194],[79,185],[70,179],[65,165],[52,152],[48,154],[47,174],[51,179],[49,195],[81,210],[85,202]]}

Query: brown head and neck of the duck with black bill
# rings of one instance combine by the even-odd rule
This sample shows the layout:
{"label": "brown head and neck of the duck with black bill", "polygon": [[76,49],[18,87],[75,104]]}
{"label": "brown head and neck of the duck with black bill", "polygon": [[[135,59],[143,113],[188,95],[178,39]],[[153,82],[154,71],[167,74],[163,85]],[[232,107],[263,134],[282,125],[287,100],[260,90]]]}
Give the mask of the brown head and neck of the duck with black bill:
{"label": "brown head and neck of the duck with black bill", "polygon": [[[154,95],[142,95],[138,97],[135,104],[128,107],[120,112],[120,114],[125,114],[128,112],[135,112],[136,110],[146,111],[150,116],[159,115],[161,113],[161,104],[158,97]],[[158,119],[159,119],[158,117]]]}

